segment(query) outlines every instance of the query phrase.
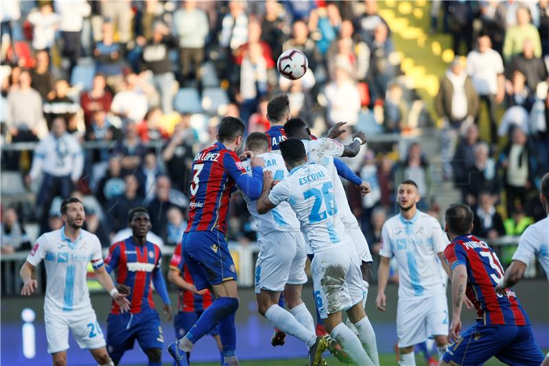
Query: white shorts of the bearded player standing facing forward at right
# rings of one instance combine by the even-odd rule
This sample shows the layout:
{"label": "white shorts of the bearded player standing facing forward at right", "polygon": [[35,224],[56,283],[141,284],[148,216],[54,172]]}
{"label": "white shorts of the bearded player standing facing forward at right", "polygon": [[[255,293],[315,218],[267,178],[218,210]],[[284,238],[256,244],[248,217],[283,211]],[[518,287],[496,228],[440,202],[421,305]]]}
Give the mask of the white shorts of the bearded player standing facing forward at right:
{"label": "white shorts of the bearded player standing facing forward at right", "polygon": [[430,336],[448,334],[448,304],[445,294],[398,302],[399,347],[427,341]]}

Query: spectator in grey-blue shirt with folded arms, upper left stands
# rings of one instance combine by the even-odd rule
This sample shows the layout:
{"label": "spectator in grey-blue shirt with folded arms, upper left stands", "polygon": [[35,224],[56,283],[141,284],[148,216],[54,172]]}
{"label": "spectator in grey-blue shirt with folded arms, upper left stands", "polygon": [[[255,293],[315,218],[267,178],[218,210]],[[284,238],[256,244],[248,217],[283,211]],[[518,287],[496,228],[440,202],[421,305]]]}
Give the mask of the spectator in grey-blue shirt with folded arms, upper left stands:
{"label": "spectator in grey-blue shirt with folded arms, upper left stands", "polygon": [[122,47],[114,40],[113,23],[102,25],[103,39],[95,45],[93,56],[96,61],[96,72],[109,76],[120,76],[122,73]]}

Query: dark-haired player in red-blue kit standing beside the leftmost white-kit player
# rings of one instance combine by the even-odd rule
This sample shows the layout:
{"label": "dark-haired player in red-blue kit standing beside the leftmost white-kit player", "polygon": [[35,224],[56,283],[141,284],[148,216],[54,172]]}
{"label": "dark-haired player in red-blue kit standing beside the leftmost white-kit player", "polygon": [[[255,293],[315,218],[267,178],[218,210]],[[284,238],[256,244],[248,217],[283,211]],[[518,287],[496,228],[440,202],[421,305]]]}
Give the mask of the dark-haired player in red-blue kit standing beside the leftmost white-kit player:
{"label": "dark-haired player in red-blue kit standing beside the leftmost white-kit player", "polygon": [[159,293],[168,321],[172,319],[170,297],[162,277],[162,253],[158,245],[147,241],[150,216],[144,207],[130,209],[128,225],[132,236],[113,244],[105,259],[108,273],[115,271],[116,282],[130,295],[129,313],[121,313],[113,303],[107,319],[107,349],[115,365],[131,350],[135,341],[148,358],[149,366],[160,366],[164,345],[159,314],[152,301],[152,286]]}

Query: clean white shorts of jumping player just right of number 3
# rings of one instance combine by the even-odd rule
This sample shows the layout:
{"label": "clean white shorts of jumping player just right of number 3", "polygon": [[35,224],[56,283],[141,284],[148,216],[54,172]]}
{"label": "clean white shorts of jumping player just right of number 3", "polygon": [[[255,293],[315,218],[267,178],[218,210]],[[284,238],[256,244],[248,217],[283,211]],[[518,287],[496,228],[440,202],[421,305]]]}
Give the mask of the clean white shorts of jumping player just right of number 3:
{"label": "clean white shorts of jumping player just right of number 3", "polygon": [[257,240],[259,256],[255,263],[255,293],[261,288],[284,290],[285,284],[307,282],[305,239],[301,231],[272,231]]}

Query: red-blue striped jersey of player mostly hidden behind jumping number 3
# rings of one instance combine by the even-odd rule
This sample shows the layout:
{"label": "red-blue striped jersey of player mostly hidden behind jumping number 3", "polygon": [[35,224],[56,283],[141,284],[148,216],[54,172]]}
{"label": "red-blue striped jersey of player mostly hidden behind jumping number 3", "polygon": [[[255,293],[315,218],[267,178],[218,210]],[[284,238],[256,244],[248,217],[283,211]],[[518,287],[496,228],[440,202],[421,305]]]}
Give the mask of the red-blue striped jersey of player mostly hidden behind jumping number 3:
{"label": "red-blue striped jersey of player mostly hidden behind jumping number 3", "polygon": [[[178,271],[183,281],[193,284],[189,268],[187,268],[183,255],[181,255],[181,244],[178,244],[174,250],[172,260],[170,260],[170,269]],[[191,291],[179,289],[177,310],[183,312],[202,312],[211,305],[212,301],[213,298],[211,297],[210,290],[206,290],[204,295],[196,295],[191,293]]]}

